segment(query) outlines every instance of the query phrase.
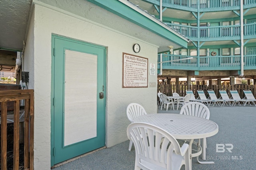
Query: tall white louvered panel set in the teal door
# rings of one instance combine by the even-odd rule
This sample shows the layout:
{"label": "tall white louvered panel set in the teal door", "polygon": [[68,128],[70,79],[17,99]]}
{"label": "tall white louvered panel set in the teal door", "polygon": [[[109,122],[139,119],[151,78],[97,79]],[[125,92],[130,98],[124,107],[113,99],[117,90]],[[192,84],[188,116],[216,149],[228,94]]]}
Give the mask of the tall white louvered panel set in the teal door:
{"label": "tall white louvered panel set in the teal door", "polygon": [[97,136],[97,56],[65,50],[64,146]]}

